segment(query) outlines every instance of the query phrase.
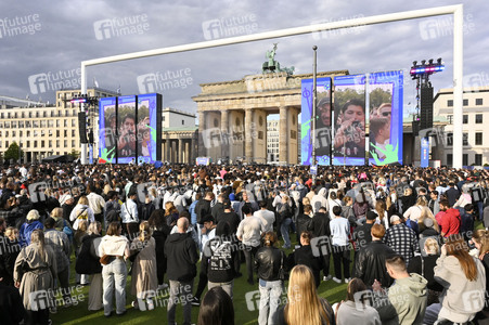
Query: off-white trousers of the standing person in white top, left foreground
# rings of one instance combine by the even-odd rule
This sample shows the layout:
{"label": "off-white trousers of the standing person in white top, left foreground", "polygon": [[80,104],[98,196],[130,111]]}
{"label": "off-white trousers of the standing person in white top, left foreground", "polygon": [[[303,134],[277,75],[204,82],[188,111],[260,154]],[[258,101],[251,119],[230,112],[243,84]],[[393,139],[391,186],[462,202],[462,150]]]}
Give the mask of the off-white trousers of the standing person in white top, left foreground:
{"label": "off-white trousers of the standing person in white top, left foreground", "polygon": [[112,312],[112,298],[115,289],[116,313],[126,311],[127,266],[123,259],[115,259],[102,269],[104,314]]}

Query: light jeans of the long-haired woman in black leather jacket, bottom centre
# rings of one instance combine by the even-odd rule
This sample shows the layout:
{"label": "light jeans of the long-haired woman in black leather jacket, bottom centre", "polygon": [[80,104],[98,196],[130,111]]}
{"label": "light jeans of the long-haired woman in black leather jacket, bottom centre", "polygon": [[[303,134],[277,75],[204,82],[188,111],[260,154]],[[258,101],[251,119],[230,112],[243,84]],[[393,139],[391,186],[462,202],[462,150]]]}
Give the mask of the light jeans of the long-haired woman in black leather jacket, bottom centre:
{"label": "light jeans of the long-haired woman in black leather jacket, bottom centre", "polygon": [[282,294],[282,281],[263,281],[260,278],[260,312],[259,325],[273,325],[278,322],[280,295]]}

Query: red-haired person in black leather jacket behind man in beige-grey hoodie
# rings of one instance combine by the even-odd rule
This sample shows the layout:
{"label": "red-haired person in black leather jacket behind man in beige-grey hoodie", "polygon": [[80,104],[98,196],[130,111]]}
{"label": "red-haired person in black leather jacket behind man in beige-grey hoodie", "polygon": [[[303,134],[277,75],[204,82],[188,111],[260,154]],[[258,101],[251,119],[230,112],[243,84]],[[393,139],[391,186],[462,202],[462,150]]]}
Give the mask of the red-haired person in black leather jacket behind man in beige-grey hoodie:
{"label": "red-haired person in black leather jacket behind man in beige-grey hoodie", "polygon": [[395,251],[382,242],[385,227],[382,224],[372,226],[372,243],[360,249],[353,265],[353,276],[361,278],[368,287],[372,287],[375,280],[387,288],[393,284],[393,278],[387,273],[385,260]]}

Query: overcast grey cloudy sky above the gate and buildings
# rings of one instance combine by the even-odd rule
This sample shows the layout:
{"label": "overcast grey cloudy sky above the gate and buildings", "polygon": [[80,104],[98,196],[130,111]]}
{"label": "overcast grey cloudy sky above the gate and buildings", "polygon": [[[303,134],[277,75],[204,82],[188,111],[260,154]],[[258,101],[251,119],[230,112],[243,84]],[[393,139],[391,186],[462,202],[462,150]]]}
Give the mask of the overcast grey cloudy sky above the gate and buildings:
{"label": "overcast grey cloudy sky above the gate and buildings", "polygon": [[[2,1],[0,94],[52,103],[61,82],[79,87],[85,60],[460,2]],[[465,2],[464,80],[466,86],[489,84],[489,2]],[[98,65],[88,68],[88,86],[95,79],[104,89],[120,86],[123,94],[156,87],[164,106],[195,113],[191,96],[201,92],[200,83],[260,73],[266,51],[279,42],[275,60],[295,66],[296,74],[311,73],[314,44],[319,72],[409,69],[414,60],[442,57],[446,70],[432,77],[436,92],[452,87],[451,24],[449,16],[438,16]],[[171,81],[171,88],[154,83],[155,78]],[[404,80],[406,110],[414,105],[415,84]]]}

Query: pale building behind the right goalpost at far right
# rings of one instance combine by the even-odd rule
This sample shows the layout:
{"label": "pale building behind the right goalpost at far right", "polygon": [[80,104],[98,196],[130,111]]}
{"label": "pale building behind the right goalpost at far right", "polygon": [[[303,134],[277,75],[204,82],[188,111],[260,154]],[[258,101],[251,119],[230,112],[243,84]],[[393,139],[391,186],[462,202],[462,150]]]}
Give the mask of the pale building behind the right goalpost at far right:
{"label": "pale building behind the right goalpost at far right", "polygon": [[[434,99],[434,116],[446,121],[445,131],[437,134],[445,146],[441,165],[453,161],[453,89],[440,89]],[[463,92],[463,166],[489,164],[489,87],[464,89]]]}

